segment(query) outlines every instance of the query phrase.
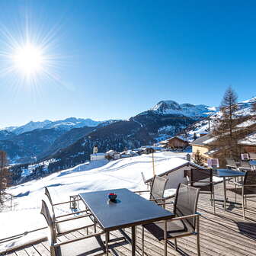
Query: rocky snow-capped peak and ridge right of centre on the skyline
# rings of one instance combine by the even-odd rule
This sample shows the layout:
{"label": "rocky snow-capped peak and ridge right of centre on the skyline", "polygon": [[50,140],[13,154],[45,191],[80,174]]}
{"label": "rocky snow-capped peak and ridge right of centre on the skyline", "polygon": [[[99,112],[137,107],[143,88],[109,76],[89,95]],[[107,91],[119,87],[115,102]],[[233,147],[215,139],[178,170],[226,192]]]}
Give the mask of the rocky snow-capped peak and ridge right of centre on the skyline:
{"label": "rocky snow-capped peak and ridge right of centre on the skyline", "polygon": [[[216,112],[216,107],[206,105],[193,105],[189,103],[178,104],[176,101],[160,101],[150,109],[157,114],[179,114],[185,117],[207,117]],[[149,111],[150,111],[149,110]],[[143,113],[145,114],[145,112]]]}

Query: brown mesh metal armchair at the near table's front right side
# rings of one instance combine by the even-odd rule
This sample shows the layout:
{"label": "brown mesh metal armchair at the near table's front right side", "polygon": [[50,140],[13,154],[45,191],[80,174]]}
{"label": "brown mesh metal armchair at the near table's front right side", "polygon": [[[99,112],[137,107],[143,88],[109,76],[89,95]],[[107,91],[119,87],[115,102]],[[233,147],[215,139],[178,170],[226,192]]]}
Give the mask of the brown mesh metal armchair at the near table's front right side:
{"label": "brown mesh metal armchair at the near table's front right side", "polygon": [[200,255],[199,219],[197,201],[200,188],[179,184],[174,201],[175,217],[161,222],[153,222],[142,226],[142,255],[144,255],[144,229],[147,229],[158,241],[165,242],[165,256],[167,256],[167,242],[174,239],[177,250],[177,239],[189,235],[197,235],[197,254]]}

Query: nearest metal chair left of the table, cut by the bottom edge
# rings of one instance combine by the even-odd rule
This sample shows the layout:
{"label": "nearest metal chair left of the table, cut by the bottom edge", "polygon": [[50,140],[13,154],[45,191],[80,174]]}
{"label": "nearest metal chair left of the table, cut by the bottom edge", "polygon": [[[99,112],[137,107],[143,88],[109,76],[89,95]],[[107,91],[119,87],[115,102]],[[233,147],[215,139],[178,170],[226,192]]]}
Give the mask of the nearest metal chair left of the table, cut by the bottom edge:
{"label": "nearest metal chair left of the table, cut by the bottom edge", "polygon": [[66,242],[56,242],[55,221],[44,200],[42,200],[41,214],[43,214],[50,229],[49,242],[51,256],[89,256],[103,255],[108,252],[107,236],[106,245],[101,240],[101,235],[104,235],[104,232],[85,235],[82,238],[75,238]]}

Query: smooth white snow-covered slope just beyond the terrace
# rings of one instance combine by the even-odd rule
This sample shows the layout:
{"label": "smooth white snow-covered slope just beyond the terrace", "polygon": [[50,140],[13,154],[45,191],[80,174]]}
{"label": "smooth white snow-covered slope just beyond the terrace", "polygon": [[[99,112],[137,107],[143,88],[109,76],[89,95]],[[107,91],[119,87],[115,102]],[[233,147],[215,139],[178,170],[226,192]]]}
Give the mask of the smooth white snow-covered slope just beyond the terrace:
{"label": "smooth white snow-covered slope just beyond the terrace", "polygon": [[[177,157],[181,154],[172,154],[170,152],[155,153],[156,174],[187,162],[184,158]],[[130,190],[145,190],[146,185],[142,181],[141,172],[147,178],[152,177],[152,155],[122,158],[112,162],[107,160],[88,162],[37,181],[8,188],[6,192],[15,196],[13,201],[15,207],[11,213],[0,213],[0,238],[46,225],[43,216],[40,215],[41,199],[46,186],[53,195],[53,202],[67,201],[69,195],[86,191],[123,187]],[[59,211],[57,215],[59,213],[63,212]]]}

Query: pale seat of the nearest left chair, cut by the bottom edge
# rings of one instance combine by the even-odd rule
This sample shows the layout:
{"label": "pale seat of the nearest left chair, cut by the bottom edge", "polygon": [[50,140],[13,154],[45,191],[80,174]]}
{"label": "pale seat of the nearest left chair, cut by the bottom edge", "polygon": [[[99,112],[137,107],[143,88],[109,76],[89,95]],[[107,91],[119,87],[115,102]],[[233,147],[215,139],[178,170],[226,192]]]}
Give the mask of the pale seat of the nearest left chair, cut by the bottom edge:
{"label": "pale seat of the nearest left chair, cut by the bottom edge", "polygon": [[59,245],[54,250],[56,256],[94,256],[106,253],[100,235],[72,242],[72,244]]}

